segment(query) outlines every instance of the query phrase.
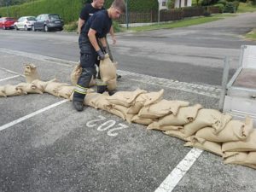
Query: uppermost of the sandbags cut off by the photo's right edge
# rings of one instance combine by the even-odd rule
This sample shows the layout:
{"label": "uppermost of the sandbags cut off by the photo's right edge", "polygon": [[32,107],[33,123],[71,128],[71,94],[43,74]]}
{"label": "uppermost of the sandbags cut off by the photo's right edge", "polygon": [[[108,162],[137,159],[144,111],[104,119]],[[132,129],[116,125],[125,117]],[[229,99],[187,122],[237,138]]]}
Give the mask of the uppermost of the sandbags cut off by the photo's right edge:
{"label": "uppermost of the sandbags cut off by the photo's right edge", "polygon": [[244,141],[227,142],[222,144],[223,151],[256,151],[256,129]]}

